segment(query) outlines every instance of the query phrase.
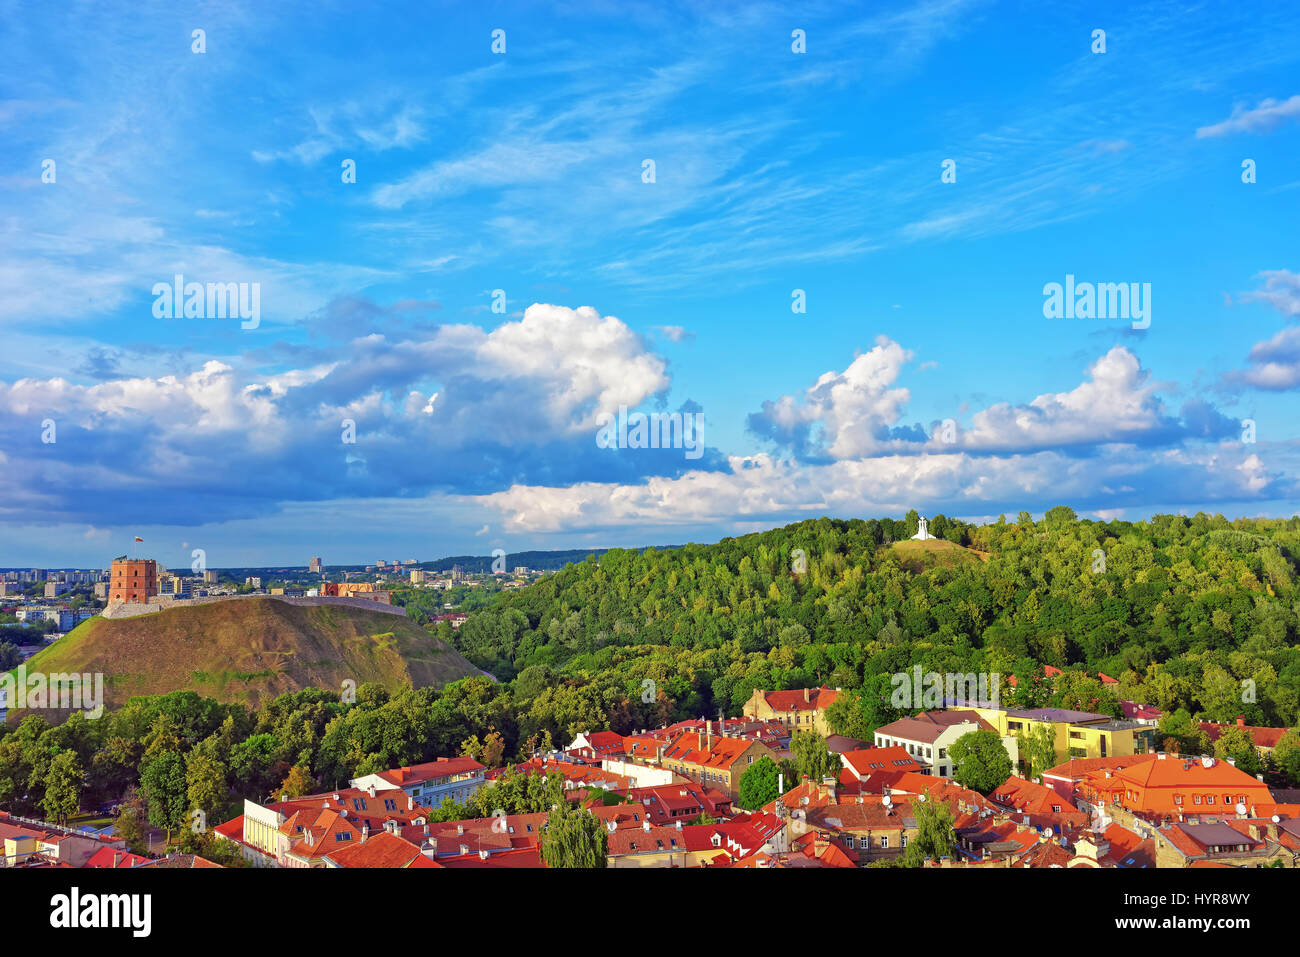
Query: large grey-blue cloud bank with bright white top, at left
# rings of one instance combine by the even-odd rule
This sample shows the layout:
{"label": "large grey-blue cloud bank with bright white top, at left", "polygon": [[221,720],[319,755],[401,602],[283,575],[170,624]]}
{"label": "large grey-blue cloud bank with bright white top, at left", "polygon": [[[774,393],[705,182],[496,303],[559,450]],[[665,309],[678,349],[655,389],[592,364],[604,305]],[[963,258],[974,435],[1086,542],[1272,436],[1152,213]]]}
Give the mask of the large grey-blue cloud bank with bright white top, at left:
{"label": "large grey-blue cloud bank with bright white top, at left", "polygon": [[[240,358],[91,385],[0,382],[4,514],[103,520],[112,502],[122,521],[200,524],[291,499],[638,481],[719,462],[597,446],[601,412],[662,402],[670,380],[636,332],[588,307],[536,303],[491,330],[419,326],[303,355],[272,372]],[[53,443],[39,441],[44,419]]]}

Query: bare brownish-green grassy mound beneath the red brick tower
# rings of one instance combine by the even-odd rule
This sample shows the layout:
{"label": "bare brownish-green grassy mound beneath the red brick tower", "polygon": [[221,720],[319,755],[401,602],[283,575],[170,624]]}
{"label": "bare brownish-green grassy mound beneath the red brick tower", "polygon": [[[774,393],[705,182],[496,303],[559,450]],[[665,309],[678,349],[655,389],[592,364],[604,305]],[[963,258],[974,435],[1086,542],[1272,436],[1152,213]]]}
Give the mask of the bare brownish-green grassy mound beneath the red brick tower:
{"label": "bare brownish-green grassy mound beneath the red brick tower", "polygon": [[35,654],[27,670],[103,672],[110,709],[181,689],[256,706],[307,687],[338,690],[344,679],[396,690],[482,674],[406,618],[274,598],[92,618]]}

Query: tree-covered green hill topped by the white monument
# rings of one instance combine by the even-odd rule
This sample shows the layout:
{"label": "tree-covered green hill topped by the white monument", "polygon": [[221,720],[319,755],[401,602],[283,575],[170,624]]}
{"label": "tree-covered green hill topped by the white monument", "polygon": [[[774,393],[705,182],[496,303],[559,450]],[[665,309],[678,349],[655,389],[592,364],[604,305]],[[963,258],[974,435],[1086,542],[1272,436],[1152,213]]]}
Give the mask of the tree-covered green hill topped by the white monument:
{"label": "tree-covered green hill topped by the white monument", "polygon": [[984,560],[920,563],[893,545],[915,528],[914,512],[816,519],[612,550],[503,593],[452,640],[500,679],[519,675],[525,696],[558,684],[582,698],[562,710],[608,713],[616,729],[737,713],[755,687],[888,690],[914,664],[1004,676],[1053,664],[1078,674],[1052,703],[1113,707],[1118,692],[1208,719],[1296,723],[1300,519],[935,516],[931,533]]}

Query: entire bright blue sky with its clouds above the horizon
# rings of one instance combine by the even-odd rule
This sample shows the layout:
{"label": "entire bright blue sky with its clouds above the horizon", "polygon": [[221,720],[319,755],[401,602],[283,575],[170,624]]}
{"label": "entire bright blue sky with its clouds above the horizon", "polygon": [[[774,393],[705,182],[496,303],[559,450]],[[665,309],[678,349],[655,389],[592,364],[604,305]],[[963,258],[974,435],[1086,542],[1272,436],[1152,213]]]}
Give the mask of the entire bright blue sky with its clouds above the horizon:
{"label": "entire bright blue sky with its clouds above the horizon", "polygon": [[1300,12],[1041,7],[0,3],[0,564],[1295,514]]}

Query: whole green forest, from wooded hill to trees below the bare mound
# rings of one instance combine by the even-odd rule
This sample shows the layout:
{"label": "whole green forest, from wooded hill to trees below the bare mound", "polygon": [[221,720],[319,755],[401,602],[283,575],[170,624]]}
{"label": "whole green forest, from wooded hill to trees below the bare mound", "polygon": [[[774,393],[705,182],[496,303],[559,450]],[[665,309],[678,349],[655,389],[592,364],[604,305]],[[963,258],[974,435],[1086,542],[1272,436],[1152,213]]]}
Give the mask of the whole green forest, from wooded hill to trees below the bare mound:
{"label": "whole green forest, from wooded hill to trees below the bare mound", "polygon": [[[242,797],[437,755],[502,766],[578,731],[734,715],[754,688],[846,689],[832,722],[867,737],[901,714],[889,679],[915,664],[1015,675],[1014,692],[1002,685],[1009,705],[1150,703],[1190,753],[1208,748],[1193,718],[1297,723],[1300,520],[935,516],[931,532],[970,551],[920,566],[894,547],[916,521],[816,519],[716,545],[612,550],[497,593],[459,629],[437,625],[499,681],[363,685],[348,702],[307,689],[256,710],[176,692],[62,724],[29,714],[0,728],[0,807],[62,820],[125,796],[124,833],[144,820],[174,833],[194,810],[221,820]],[[1065,675],[1045,681],[1045,664]],[[1279,767],[1300,783],[1300,737],[1288,737]]]}

